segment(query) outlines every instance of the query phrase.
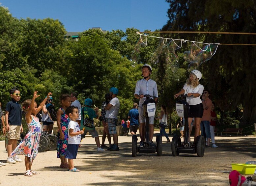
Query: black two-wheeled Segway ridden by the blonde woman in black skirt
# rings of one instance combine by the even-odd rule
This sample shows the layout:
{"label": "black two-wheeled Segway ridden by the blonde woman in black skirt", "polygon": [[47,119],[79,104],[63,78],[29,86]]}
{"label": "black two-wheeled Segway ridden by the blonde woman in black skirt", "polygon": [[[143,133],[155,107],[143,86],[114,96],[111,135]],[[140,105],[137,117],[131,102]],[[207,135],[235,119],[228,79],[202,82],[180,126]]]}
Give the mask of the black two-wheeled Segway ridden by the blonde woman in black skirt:
{"label": "black two-wheeled Segway ridden by the blonde woman in black skirt", "polygon": [[188,142],[189,136],[189,104],[186,102],[186,94],[180,95],[181,100],[176,102],[176,112],[179,117],[185,118],[185,134],[184,142],[181,143],[181,137],[175,134],[172,138],[172,155],[179,156],[180,153],[196,153],[198,157],[203,157],[205,152],[205,139],[202,135],[197,137],[196,145],[192,146],[191,142]]}

